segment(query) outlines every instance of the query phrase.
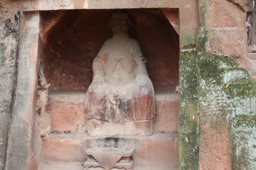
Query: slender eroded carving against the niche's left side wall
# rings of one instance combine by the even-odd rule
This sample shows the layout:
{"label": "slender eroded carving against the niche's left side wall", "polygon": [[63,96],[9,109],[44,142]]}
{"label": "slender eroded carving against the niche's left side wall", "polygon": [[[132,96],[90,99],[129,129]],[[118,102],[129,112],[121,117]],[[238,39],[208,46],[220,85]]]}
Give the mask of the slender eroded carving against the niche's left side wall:
{"label": "slender eroded carving against the niche's left side wall", "polygon": [[46,105],[48,103],[48,88],[51,84],[47,84],[44,77],[42,67],[38,73],[38,86],[36,96],[36,112],[38,116],[38,128],[40,136],[43,138],[51,132],[51,116],[46,112]]}

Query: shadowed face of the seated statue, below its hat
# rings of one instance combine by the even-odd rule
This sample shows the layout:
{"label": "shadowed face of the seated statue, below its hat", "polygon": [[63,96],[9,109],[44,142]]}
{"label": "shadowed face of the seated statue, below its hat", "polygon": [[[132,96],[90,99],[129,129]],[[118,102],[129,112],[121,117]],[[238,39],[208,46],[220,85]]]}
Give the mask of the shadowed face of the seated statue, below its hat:
{"label": "shadowed face of the seated statue, below its hat", "polygon": [[129,25],[127,19],[113,19],[112,31],[113,34],[118,37],[123,37],[125,34],[128,34]]}

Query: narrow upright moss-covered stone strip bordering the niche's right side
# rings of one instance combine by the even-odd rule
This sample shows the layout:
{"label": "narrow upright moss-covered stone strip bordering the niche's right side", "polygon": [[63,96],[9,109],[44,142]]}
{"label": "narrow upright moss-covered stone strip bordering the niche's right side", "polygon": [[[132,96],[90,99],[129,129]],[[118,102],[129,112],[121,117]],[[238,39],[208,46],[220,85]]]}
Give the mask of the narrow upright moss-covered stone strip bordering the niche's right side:
{"label": "narrow upright moss-covered stone strip bordering the niche's right side", "polygon": [[198,152],[195,149],[199,136],[196,51],[180,52],[179,93],[179,169],[198,170]]}

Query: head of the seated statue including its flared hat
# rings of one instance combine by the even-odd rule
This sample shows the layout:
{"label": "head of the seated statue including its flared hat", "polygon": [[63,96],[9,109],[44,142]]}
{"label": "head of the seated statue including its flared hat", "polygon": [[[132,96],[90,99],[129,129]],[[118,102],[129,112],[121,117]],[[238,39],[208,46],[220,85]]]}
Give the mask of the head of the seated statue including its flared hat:
{"label": "head of the seated statue including its flared hat", "polygon": [[123,37],[125,34],[128,34],[131,25],[133,24],[125,13],[113,14],[108,24],[108,26],[112,28],[113,34],[118,37]]}

